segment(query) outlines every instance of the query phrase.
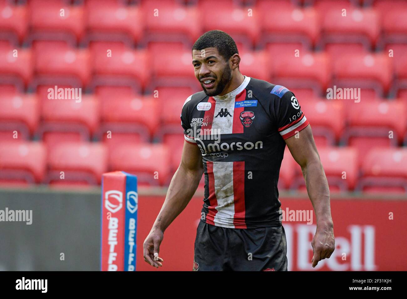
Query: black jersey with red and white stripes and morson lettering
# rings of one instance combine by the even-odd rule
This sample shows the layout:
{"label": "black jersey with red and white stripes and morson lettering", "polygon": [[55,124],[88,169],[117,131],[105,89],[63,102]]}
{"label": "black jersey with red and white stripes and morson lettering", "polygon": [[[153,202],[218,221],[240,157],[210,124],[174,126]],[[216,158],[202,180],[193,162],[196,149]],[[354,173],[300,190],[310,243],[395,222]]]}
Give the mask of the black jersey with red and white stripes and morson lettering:
{"label": "black jersey with red and white stripes and morson lettering", "polygon": [[203,157],[201,221],[241,229],[281,225],[277,183],[284,139],[309,124],[295,95],[245,76],[224,96],[189,96],[181,124],[185,140]]}

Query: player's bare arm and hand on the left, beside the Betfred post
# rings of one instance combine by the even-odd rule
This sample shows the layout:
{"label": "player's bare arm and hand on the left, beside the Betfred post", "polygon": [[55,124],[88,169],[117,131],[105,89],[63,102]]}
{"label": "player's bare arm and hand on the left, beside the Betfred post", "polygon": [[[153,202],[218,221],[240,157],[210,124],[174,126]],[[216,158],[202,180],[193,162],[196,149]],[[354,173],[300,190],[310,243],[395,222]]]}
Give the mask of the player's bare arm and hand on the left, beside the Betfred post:
{"label": "player's bare arm and hand on the left, beside the Betfred post", "polygon": [[165,229],[185,209],[198,188],[204,168],[202,155],[198,146],[184,141],[181,163],[175,172],[168,192],[153,227],[146,240],[144,240],[144,260],[151,266],[162,266],[161,258],[155,258],[159,253],[160,244],[164,237]]}

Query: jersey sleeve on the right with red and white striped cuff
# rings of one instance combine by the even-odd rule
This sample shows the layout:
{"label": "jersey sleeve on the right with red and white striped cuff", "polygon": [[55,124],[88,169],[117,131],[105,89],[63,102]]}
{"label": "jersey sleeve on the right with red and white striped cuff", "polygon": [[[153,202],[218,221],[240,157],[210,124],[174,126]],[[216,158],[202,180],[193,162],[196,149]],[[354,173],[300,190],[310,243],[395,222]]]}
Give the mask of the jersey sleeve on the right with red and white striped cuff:
{"label": "jersey sleeve on the right with red and white striped cuff", "polygon": [[[285,87],[282,87],[286,89]],[[284,90],[283,90],[284,92]],[[295,135],[309,125],[304,113],[301,110],[295,95],[286,89],[286,92],[281,97],[276,93],[274,102],[274,113],[278,127],[278,133],[284,140]]]}

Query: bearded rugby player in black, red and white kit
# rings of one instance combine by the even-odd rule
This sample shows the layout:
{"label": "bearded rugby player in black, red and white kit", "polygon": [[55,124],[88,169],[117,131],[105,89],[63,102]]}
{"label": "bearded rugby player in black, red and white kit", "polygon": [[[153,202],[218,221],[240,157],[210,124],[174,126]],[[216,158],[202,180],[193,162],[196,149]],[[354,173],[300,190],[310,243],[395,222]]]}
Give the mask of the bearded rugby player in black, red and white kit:
{"label": "bearded rugby player in black, red and white kit", "polygon": [[204,174],[193,270],[287,271],[277,189],[286,144],[301,166],[315,211],[312,266],[335,249],[328,182],[297,98],[286,87],[244,76],[239,62],[234,40],[223,31],[208,31],[193,45],[192,64],[203,91],[182,108],[181,163],[143,245],[151,266],[162,266],[164,231]]}

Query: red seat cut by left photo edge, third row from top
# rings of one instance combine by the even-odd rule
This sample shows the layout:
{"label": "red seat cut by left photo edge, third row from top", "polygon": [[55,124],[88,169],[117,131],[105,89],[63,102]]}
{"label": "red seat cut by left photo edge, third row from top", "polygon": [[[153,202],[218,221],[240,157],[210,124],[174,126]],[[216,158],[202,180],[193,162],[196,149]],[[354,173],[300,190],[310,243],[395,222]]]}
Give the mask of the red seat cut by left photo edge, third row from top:
{"label": "red seat cut by left photo edge, third row from top", "polygon": [[27,140],[37,129],[39,105],[35,96],[6,94],[0,96],[0,107],[1,141],[14,141],[13,131],[18,132],[17,140]]}

